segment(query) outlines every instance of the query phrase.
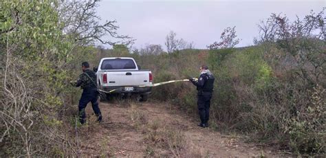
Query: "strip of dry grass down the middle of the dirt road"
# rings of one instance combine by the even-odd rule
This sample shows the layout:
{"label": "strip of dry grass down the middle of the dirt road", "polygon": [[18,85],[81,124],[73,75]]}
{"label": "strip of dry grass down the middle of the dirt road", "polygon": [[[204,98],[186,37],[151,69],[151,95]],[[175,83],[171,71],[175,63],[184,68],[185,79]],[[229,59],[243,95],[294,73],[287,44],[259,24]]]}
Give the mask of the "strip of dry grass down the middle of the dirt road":
{"label": "strip of dry grass down the middle of the dirt road", "polygon": [[131,103],[129,117],[148,144],[144,150],[145,157],[180,157],[185,154],[186,140],[182,131],[168,126],[164,120],[149,120],[135,103]]}

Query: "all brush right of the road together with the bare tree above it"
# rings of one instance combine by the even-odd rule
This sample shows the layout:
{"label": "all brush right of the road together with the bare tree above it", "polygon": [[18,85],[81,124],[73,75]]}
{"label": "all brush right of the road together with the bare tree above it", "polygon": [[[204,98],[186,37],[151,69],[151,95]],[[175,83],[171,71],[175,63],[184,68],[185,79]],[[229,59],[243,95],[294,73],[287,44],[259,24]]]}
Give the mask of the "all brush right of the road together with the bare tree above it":
{"label": "all brush right of the road together with the bare tree above it", "polygon": [[[274,26],[274,30],[262,34],[257,46],[208,53],[177,51],[151,56],[155,63],[146,64],[159,81],[198,76],[197,67],[207,64],[216,77],[210,110],[215,128],[247,133],[254,141],[296,153],[322,154],[326,139],[323,14],[311,12],[294,23],[272,14],[260,28],[266,31]],[[191,84],[176,84],[174,89],[157,91],[164,91],[165,100],[197,113],[194,89]],[[152,97],[162,100],[164,96]]]}

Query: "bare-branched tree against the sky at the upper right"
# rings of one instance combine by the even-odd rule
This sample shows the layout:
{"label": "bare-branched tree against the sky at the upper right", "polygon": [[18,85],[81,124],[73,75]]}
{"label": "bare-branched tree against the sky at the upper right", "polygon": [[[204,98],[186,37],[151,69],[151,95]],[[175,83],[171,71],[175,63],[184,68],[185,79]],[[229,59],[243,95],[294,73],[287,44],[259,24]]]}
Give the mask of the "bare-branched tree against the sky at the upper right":
{"label": "bare-branched tree against the sky at the upper right", "polygon": [[294,22],[285,15],[273,13],[268,21],[259,25],[258,43],[276,42],[285,50],[288,58],[285,62],[298,67],[300,71],[296,74],[312,84],[325,76],[322,69],[325,67],[324,11],[325,8],[317,13],[312,10],[303,19],[296,16]]}

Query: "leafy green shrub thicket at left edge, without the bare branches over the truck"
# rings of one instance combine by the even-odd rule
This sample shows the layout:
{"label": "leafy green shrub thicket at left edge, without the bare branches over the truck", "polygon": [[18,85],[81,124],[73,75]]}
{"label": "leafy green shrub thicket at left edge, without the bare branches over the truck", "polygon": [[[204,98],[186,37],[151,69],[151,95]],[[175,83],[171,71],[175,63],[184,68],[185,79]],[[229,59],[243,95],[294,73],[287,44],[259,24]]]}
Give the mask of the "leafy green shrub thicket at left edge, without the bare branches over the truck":
{"label": "leafy green shrub thicket at left edge, without the bare branches over the truck", "polygon": [[[64,67],[72,60],[73,40],[61,30],[57,5],[57,1],[1,2],[0,49],[6,54],[1,61],[5,78],[1,124],[7,125],[1,125],[1,142],[6,144],[1,155],[31,157],[67,148],[56,143],[69,139],[59,130],[57,111],[63,109],[68,92],[69,73]],[[64,153],[70,152],[67,148]]]}

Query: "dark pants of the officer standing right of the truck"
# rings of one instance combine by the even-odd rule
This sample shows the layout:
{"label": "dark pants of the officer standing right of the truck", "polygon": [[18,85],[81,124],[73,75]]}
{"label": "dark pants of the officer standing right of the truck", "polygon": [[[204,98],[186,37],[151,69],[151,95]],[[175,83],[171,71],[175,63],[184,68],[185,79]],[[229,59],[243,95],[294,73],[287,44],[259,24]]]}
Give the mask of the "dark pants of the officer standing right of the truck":
{"label": "dark pants of the officer standing right of the truck", "polygon": [[210,98],[212,98],[212,93],[203,93],[202,95],[198,95],[197,105],[202,124],[207,124],[209,120]]}

